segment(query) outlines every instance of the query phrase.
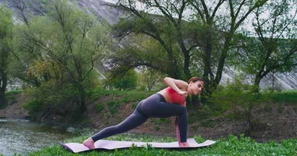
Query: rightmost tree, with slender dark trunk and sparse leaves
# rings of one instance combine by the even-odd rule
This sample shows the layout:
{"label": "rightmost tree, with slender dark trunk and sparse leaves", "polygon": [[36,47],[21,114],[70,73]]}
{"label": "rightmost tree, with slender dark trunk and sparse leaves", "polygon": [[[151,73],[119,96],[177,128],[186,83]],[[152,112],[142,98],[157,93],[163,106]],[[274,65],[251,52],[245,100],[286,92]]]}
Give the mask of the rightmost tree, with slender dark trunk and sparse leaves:
{"label": "rightmost tree, with slender dark trunk and sparse leaves", "polygon": [[238,60],[241,69],[255,75],[254,92],[268,73],[289,72],[297,65],[297,13],[291,12],[295,6],[294,1],[278,0],[256,9],[253,26],[257,38],[248,37],[251,33],[242,36]]}

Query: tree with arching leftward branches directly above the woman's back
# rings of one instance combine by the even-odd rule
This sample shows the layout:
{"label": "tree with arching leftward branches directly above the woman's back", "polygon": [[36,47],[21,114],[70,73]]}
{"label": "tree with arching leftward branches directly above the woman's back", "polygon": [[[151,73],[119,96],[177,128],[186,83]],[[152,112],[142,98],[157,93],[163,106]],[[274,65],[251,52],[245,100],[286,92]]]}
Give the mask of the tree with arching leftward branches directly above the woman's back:
{"label": "tree with arching leftward branches directly above the woman's back", "polygon": [[[137,2],[144,5],[143,8],[145,9],[137,8]],[[188,3],[188,0],[118,0],[116,4],[111,4],[110,6],[122,8],[131,14],[130,17],[121,19],[113,26],[116,37],[123,39],[131,34],[146,35],[154,39],[154,43],[160,45],[162,49],[157,50],[162,52],[162,54],[159,57],[164,58],[162,61],[163,66],[156,66],[155,62],[159,60],[144,61],[146,60],[145,58],[134,56],[133,61],[125,64],[125,68],[121,68],[123,63],[117,62],[123,59],[114,58],[113,62],[120,64],[114,70],[125,72],[130,68],[147,66],[159,70],[172,78],[191,78],[189,69],[191,51],[198,45],[188,44],[187,36],[184,35],[187,30],[187,22],[183,20],[183,14]],[[150,9],[157,9],[163,16],[149,14],[148,10]],[[154,55],[151,52],[150,54]],[[131,59],[131,56],[129,58]]]}

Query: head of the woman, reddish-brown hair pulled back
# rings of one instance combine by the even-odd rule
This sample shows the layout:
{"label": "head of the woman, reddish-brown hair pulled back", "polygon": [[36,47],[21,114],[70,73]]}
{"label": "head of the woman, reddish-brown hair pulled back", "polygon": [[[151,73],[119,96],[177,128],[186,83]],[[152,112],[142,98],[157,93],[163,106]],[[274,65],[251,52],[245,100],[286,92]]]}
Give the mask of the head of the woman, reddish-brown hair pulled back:
{"label": "head of the woman, reddish-brown hair pulled back", "polygon": [[199,77],[193,77],[188,80],[189,88],[188,93],[193,95],[198,95],[201,93],[202,88],[204,87],[203,79]]}

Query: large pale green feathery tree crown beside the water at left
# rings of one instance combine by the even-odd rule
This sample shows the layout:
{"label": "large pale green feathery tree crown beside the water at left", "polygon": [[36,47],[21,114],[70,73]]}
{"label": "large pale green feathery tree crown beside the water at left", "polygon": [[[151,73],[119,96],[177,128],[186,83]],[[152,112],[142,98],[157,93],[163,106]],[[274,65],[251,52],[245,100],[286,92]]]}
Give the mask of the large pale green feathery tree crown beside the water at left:
{"label": "large pale green feathery tree crown beside the water at left", "polygon": [[106,50],[108,30],[67,0],[49,0],[47,4],[48,16],[34,16],[29,23],[18,25],[16,64],[25,67],[22,79],[36,82],[37,88],[29,93],[40,98],[32,101],[46,106],[41,111],[57,105],[63,110],[64,105],[75,102],[72,108],[82,114],[86,88],[91,89],[98,80],[94,68]]}

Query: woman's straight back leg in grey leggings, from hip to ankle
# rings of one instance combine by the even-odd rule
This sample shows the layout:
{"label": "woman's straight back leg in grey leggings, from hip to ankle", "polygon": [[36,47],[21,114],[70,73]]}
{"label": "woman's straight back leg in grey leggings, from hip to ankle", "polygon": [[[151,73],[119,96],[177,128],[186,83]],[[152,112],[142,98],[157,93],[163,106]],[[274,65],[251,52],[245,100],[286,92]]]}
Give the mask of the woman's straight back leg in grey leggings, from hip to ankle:
{"label": "woman's straight back leg in grey leggings, from hip to ankle", "polygon": [[137,109],[129,116],[127,117],[123,122],[119,123],[118,125],[115,126],[110,126],[106,127],[102,131],[98,132],[91,138],[93,139],[94,142],[97,140],[100,140],[105,137],[110,137],[115,134],[120,134],[127,132],[137,126],[140,126],[143,124],[146,120],[148,119],[147,116],[143,115]]}

